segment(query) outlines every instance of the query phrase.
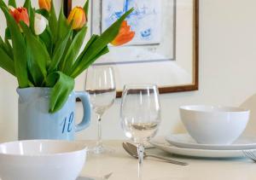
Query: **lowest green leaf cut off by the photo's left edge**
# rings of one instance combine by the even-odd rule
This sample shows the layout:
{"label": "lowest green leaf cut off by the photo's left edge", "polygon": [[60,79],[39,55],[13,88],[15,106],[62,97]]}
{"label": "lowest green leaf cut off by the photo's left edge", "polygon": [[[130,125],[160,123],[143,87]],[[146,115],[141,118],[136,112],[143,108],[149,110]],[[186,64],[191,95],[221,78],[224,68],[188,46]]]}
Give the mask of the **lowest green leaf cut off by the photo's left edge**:
{"label": "lowest green leaf cut off by the photo's left edge", "polygon": [[15,76],[15,62],[12,61],[9,58],[9,55],[6,54],[6,52],[0,48],[0,67],[2,67],[4,70],[8,71],[9,73],[13,74]]}

